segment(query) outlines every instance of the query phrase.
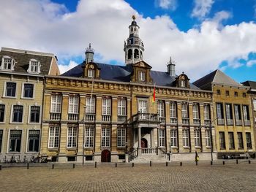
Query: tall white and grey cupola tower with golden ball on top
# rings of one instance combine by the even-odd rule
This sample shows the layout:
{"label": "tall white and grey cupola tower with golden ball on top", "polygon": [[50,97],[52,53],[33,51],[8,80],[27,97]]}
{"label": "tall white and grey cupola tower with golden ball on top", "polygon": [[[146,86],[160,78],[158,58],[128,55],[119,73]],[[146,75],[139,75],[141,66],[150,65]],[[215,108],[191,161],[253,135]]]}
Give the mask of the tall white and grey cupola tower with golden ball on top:
{"label": "tall white and grey cupola tower with golden ball on top", "polygon": [[144,45],[139,37],[140,27],[135,19],[135,15],[132,15],[132,23],[129,25],[129,37],[124,42],[126,64],[135,64],[143,60]]}

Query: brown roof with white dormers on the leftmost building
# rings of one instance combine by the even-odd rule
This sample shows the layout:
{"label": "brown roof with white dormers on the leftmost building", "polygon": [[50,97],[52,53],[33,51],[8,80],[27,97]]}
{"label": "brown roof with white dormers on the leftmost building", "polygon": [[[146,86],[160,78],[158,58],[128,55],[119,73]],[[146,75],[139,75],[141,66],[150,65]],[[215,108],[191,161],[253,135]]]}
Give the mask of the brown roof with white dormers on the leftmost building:
{"label": "brown roof with white dormers on the leftmost building", "polygon": [[40,61],[41,69],[40,75],[49,74],[50,71],[50,64],[54,57],[51,53],[39,53],[33,52],[29,50],[16,50],[11,48],[2,47],[0,51],[0,64],[1,58],[6,55],[11,58],[15,59],[15,66],[13,72],[20,72],[20,73],[28,73],[27,70],[29,69],[29,61],[34,58],[37,61]]}

